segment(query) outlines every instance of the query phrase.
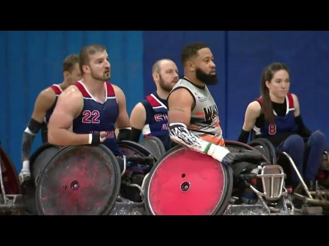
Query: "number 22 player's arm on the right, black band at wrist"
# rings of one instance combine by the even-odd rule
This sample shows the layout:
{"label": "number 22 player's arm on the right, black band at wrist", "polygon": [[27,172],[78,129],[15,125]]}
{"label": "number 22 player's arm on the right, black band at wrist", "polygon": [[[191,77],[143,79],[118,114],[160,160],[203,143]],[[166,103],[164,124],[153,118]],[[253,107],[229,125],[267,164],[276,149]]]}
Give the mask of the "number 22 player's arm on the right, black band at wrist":
{"label": "number 22 player's arm on the right, black band at wrist", "polygon": [[123,91],[118,86],[112,86],[119,106],[119,115],[115,122],[116,127],[119,129],[118,140],[130,140],[131,125],[126,109],[125,96]]}

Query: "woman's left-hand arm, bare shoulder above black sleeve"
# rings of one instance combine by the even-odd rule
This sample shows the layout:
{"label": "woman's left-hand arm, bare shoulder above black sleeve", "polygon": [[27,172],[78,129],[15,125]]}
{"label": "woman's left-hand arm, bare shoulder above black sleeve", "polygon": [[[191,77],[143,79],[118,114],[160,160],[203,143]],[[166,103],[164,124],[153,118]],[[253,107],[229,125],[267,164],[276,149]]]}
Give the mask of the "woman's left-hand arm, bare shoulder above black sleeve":
{"label": "woman's left-hand arm, bare shoulder above black sleeve", "polygon": [[252,101],[246,109],[245,120],[237,141],[247,142],[251,129],[254,127],[257,117],[261,115],[262,107],[258,101]]}

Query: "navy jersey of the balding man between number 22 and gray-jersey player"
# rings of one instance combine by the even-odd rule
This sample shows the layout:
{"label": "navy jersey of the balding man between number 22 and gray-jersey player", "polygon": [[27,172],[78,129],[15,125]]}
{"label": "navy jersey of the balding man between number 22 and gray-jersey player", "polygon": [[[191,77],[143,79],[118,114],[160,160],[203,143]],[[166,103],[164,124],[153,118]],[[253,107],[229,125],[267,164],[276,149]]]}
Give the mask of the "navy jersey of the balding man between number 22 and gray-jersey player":
{"label": "navy jersey of the balding man between number 22 and gray-jersey player", "polygon": [[165,148],[169,148],[168,101],[159,98],[156,92],[146,96],[142,101],[146,111],[144,137],[155,136],[161,139]]}

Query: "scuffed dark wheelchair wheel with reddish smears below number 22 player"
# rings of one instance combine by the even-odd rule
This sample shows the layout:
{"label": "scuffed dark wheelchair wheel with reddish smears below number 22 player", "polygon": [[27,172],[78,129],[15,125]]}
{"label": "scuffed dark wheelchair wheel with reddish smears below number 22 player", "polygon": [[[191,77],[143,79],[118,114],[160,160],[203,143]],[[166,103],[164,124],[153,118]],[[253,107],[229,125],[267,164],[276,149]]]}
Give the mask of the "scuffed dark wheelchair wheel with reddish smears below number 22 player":
{"label": "scuffed dark wheelchair wheel with reddish smears below number 22 player", "polygon": [[107,215],[120,182],[116,157],[104,145],[65,147],[53,156],[38,182],[38,214]]}

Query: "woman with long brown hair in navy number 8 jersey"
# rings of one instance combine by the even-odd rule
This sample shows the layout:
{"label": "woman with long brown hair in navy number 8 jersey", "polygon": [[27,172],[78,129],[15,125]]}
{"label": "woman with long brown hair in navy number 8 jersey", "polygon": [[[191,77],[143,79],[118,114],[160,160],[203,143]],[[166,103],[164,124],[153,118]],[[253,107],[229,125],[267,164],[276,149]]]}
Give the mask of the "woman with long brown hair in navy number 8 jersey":
{"label": "woman with long brown hair in navy number 8 jersey", "polygon": [[[277,152],[285,151],[293,158],[310,187],[317,175],[326,140],[322,132],[312,133],[304,125],[298,97],[289,93],[289,86],[286,65],[273,63],[265,68],[262,96],[248,105],[238,141],[246,143],[251,130],[255,138],[267,138]],[[292,167],[290,179],[291,186],[296,188],[299,179]]]}

